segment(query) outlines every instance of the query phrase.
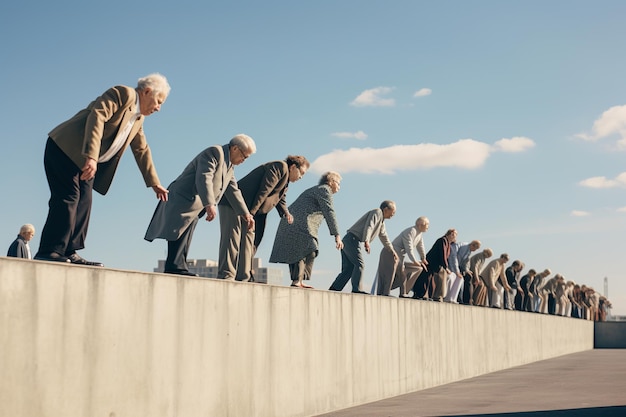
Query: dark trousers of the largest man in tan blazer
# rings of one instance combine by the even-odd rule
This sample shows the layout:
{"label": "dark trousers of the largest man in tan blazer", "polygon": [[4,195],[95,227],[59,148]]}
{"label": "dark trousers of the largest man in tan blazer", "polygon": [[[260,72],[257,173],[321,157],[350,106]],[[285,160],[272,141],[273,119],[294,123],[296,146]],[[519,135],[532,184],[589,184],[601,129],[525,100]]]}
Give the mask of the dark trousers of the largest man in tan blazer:
{"label": "dark trousers of the largest man in tan blazer", "polygon": [[80,179],[81,168],[50,138],[43,157],[50,187],[48,217],[41,231],[37,254],[68,256],[85,247],[93,179]]}

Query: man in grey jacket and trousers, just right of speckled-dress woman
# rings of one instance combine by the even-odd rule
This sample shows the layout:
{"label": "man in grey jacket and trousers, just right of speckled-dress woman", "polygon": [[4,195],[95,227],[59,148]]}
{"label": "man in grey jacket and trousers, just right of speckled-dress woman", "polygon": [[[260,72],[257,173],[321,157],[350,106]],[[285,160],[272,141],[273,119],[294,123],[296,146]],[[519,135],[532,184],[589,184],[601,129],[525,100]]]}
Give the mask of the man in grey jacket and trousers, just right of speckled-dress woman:
{"label": "man in grey jacket and trousers, just right of speckled-dress woman", "polygon": [[396,214],[396,203],[385,200],[380,204],[380,208],[368,211],[348,229],[341,249],[341,272],[331,284],[329,288],[331,291],[343,290],[348,281],[352,280],[353,293],[368,294],[361,288],[361,278],[365,267],[361,255],[361,242],[363,242],[365,252],[370,253],[370,243],[378,236],[385,248],[393,254],[393,261],[397,261],[398,255],[385,230],[385,220],[392,218],[394,214]]}

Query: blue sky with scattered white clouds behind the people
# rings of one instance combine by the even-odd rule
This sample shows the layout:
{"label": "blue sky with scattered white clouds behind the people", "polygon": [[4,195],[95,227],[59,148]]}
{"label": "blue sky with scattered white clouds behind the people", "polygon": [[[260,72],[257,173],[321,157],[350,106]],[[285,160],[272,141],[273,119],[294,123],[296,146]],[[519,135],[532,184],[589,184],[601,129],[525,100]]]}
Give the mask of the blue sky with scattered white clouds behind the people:
{"label": "blue sky with scattered white clouds behind the people", "polygon": [[[421,215],[427,248],[448,228],[528,268],[603,292],[626,314],[626,3],[623,1],[13,2],[0,6],[4,127],[0,236],[37,236],[47,214],[46,134],[108,87],[151,72],[172,86],[144,129],[168,185],[237,133],[258,152],[238,177],[288,154],[313,166],[293,201],[339,171],[342,231],[384,199],[395,237]],[[156,200],[132,155],[95,194],[82,255],[151,271]],[[267,265],[278,216],[259,256]],[[217,258],[218,224],[191,258]],[[340,255],[322,225],[311,284]],[[371,283],[382,245],[366,256]],[[282,265],[272,265],[287,268]],[[287,279],[285,278],[285,284]]]}

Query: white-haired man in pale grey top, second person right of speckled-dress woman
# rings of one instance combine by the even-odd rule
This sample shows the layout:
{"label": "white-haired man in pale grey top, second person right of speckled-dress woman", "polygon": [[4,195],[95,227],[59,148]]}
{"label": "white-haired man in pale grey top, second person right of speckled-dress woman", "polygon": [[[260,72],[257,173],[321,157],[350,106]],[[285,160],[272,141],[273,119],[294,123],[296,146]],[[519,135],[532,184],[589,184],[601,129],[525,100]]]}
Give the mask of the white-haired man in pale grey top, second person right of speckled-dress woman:
{"label": "white-haired man in pale grey top, second person right of speckled-dress woman", "polygon": [[[400,288],[400,297],[408,297],[408,292],[413,288],[414,280],[407,282],[405,272],[404,255],[409,258],[407,264],[411,270],[421,270],[424,268],[426,251],[424,250],[424,240],[422,234],[428,230],[430,221],[427,217],[418,217],[415,225],[402,231],[392,242],[393,251],[397,254],[394,261],[393,252],[387,248],[380,251],[378,260],[378,272],[376,274],[376,293],[388,296],[392,289]],[[415,256],[415,249],[419,253],[420,259]],[[412,276],[417,278],[418,273]]]}

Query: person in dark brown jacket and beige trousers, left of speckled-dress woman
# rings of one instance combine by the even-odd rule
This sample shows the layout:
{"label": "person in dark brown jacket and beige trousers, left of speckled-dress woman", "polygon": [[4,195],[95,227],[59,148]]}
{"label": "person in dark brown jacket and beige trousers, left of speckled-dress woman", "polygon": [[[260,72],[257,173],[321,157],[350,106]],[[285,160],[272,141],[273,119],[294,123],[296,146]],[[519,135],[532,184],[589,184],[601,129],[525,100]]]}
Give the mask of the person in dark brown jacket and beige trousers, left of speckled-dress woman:
{"label": "person in dark brown jacket and beige trousers, left of speckled-dress woman", "polygon": [[301,155],[289,155],[284,161],[272,161],[256,167],[238,181],[243,199],[254,216],[254,231],[242,224],[227,198],[220,200],[220,254],[218,278],[254,281],[252,260],[263,239],[267,214],[276,208],[280,217],[293,223],[286,202],[287,187],[309,169]]}

